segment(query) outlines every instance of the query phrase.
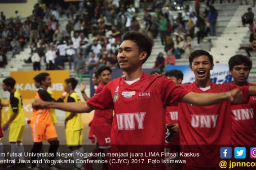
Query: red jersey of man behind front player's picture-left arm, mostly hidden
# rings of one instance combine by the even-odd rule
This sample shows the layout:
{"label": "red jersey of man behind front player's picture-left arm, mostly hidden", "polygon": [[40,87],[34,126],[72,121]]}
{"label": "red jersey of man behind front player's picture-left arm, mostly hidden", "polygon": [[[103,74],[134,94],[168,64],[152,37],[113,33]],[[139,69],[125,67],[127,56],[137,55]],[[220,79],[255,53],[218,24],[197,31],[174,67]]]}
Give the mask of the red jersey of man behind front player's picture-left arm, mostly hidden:
{"label": "red jersey of man behind front player's picture-left arm, mostly hidden", "polygon": [[[102,83],[101,81],[95,91],[95,94],[101,93],[104,86],[105,84]],[[109,126],[112,124],[112,120],[113,120],[113,109],[109,109],[109,110],[95,109],[91,127]]]}

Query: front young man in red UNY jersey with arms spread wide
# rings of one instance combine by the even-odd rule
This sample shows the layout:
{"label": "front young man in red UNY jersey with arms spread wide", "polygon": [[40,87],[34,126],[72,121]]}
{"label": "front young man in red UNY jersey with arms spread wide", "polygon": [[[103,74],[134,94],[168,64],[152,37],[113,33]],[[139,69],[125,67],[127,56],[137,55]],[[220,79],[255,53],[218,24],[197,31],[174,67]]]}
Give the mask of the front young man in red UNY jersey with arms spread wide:
{"label": "front young man in red UNY jersey with arms spread wide", "polygon": [[[93,109],[114,109],[111,129],[112,144],[164,144],[165,106],[178,101],[194,105],[211,105],[234,100],[241,102],[239,89],[223,93],[193,93],[165,76],[148,75],[142,64],[150,56],[153,40],[140,32],[126,32],[117,55],[125,77],[110,81],[101,93],[86,103],[57,103],[35,101],[37,108],[57,108],[72,112],[90,112]],[[146,168],[146,167],[145,167]]]}

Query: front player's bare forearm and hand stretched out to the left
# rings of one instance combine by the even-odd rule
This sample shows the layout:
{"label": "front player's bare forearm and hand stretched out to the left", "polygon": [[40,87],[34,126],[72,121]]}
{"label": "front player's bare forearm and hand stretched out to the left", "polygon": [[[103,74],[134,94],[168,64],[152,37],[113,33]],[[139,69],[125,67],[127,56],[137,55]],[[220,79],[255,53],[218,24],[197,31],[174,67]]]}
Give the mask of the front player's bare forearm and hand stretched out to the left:
{"label": "front player's bare forearm and hand stretched out to the left", "polygon": [[89,107],[86,102],[43,102],[39,100],[35,100],[32,102],[32,106],[35,109],[46,109],[46,108],[55,108],[64,111],[70,111],[75,113],[89,113],[94,108]]}

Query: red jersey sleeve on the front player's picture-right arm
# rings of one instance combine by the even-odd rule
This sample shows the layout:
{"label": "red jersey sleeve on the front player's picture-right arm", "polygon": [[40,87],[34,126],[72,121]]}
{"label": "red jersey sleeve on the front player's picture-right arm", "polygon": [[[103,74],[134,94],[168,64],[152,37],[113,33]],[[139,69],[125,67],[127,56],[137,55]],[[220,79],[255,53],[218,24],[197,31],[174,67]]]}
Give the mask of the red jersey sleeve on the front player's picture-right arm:
{"label": "red jersey sleeve on the front player's picture-right arm", "polygon": [[162,83],[165,85],[163,103],[167,106],[177,106],[181,98],[190,91],[184,89],[181,85],[176,85],[173,81],[166,78]]}

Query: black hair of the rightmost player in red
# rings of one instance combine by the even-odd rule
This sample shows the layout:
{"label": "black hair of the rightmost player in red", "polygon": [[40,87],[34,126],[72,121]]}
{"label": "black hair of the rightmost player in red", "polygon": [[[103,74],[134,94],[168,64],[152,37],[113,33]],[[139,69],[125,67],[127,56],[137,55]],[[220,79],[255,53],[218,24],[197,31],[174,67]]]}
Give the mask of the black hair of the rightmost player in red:
{"label": "black hair of the rightmost player in red", "polygon": [[238,54],[238,55],[234,55],[229,60],[230,71],[234,68],[235,65],[241,65],[241,64],[248,66],[249,70],[252,69],[252,60],[245,55]]}

